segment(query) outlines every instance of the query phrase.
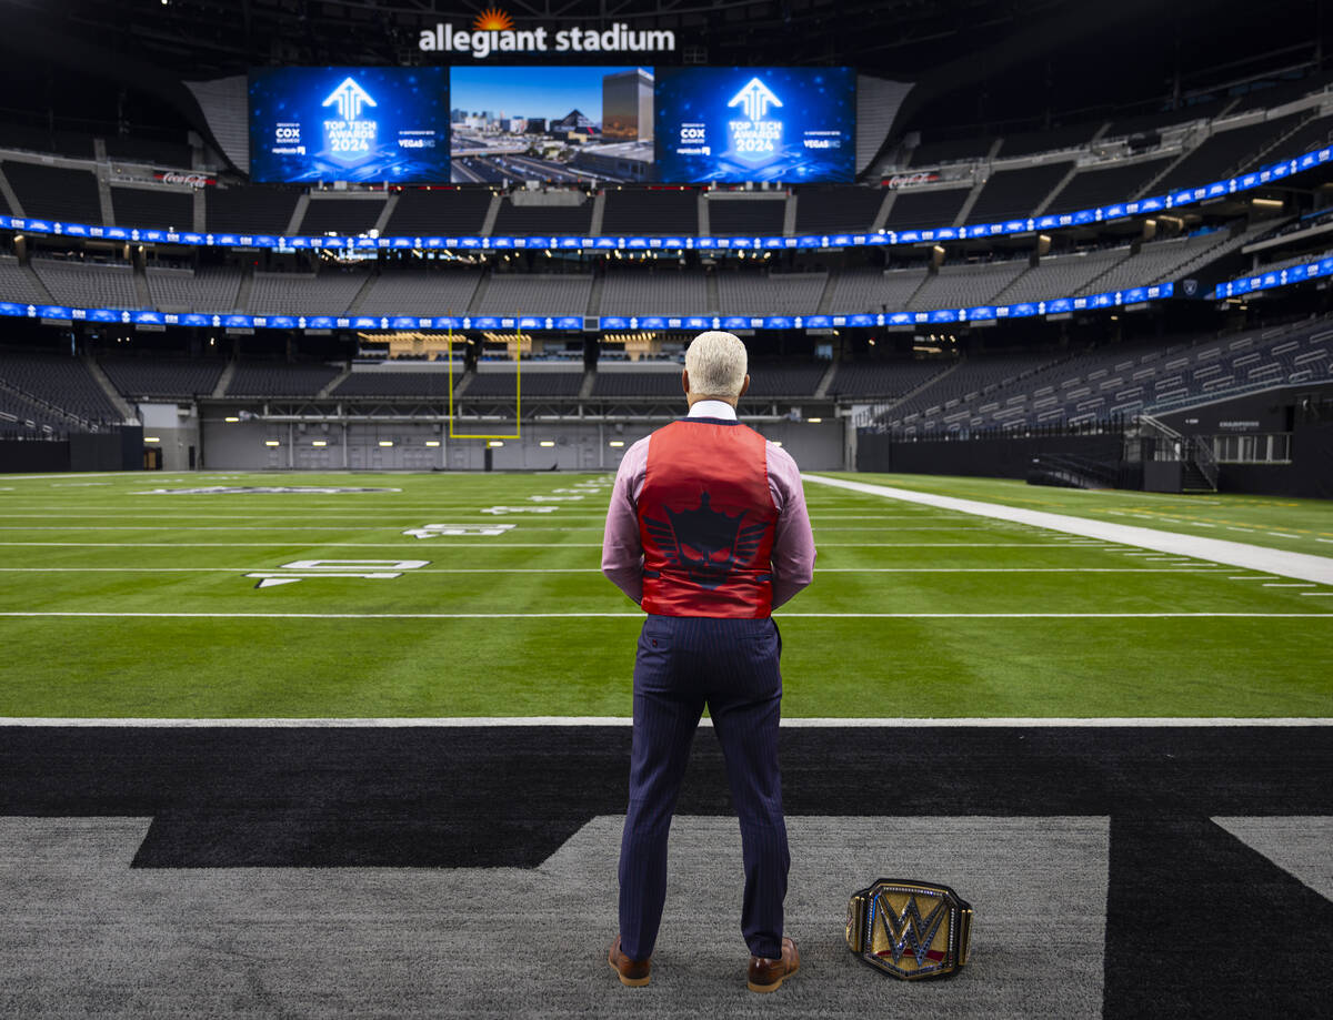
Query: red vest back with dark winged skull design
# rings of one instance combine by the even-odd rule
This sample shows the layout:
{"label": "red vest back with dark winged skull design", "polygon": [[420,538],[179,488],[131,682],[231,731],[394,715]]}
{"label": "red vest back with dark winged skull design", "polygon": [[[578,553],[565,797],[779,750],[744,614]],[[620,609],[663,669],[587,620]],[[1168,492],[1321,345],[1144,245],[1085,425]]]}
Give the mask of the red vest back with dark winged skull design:
{"label": "red vest back with dark winged skull design", "polygon": [[639,493],[644,610],[663,617],[768,617],[776,523],[762,435],[712,418],[659,429],[648,441]]}

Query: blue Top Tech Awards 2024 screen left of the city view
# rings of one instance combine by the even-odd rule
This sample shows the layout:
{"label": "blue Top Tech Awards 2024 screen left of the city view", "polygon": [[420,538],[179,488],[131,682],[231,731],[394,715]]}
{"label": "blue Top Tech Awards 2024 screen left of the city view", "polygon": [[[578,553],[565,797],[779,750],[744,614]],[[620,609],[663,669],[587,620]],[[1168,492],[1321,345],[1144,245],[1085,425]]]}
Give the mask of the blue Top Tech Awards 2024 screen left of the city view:
{"label": "blue Top Tech Awards 2024 screen left of the city view", "polygon": [[256,68],[251,180],[449,180],[445,68]]}

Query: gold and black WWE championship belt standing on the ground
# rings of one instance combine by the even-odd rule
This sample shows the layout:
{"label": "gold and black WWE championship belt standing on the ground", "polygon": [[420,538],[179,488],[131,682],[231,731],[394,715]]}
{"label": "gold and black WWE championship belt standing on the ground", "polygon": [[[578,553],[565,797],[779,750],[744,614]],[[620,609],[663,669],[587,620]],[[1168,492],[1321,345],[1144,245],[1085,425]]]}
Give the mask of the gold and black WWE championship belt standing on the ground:
{"label": "gold and black WWE championship belt standing on the ground", "polygon": [[846,904],[846,945],[904,980],[942,977],[968,961],[972,907],[948,886],[880,879]]}

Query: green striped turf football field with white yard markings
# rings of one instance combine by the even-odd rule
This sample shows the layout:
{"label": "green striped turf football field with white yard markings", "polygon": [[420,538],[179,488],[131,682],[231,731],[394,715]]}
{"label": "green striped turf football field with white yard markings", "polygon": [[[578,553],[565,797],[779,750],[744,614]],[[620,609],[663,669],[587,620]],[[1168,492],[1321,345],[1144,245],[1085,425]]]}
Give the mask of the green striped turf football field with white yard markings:
{"label": "green striped turf football field with white yard markings", "polygon": [[[840,477],[1333,555],[1314,501]],[[0,716],[628,715],[641,614],[599,571],[609,482],[0,477]],[[225,491],[284,486],[372,491]],[[788,716],[1333,715],[1333,587],[806,495]]]}

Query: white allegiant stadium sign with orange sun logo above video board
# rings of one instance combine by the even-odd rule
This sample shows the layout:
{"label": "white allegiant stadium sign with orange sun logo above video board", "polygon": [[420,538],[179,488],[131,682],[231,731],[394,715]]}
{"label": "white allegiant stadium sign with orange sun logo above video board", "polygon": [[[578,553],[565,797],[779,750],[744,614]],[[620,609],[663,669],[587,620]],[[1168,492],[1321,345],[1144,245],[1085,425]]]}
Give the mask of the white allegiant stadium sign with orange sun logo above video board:
{"label": "white allegiant stadium sign with orange sun logo above video board", "polygon": [[633,29],[624,21],[611,28],[524,28],[503,11],[484,11],[472,31],[459,32],[444,21],[423,28],[417,47],[428,53],[464,53],[484,60],[492,53],[661,53],[676,49],[668,29]]}

